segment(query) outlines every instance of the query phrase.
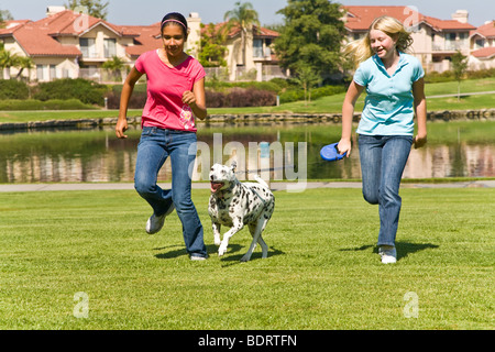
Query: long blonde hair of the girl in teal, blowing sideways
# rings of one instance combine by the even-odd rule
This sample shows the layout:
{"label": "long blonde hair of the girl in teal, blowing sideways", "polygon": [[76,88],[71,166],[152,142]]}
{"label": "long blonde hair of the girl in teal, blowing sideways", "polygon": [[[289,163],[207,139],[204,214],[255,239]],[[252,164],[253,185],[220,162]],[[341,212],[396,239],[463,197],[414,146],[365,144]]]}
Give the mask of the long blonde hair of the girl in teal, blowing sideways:
{"label": "long blonde hair of the girl in teal, blowing sideways", "polygon": [[410,33],[399,20],[388,15],[380,16],[373,21],[367,34],[363,38],[349,43],[344,48],[345,55],[351,56],[355,66],[359,66],[361,63],[373,56],[370,42],[370,32],[372,30],[382,31],[392,38],[397,40],[396,47],[400,52],[407,52],[413,45]]}

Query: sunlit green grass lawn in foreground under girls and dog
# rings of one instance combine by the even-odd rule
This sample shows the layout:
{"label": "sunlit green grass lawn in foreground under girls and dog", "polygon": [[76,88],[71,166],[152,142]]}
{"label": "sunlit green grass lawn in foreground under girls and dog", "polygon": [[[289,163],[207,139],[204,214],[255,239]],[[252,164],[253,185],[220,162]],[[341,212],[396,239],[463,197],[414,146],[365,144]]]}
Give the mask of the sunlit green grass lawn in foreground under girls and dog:
{"label": "sunlit green grass lawn in foreground under girls and dog", "polygon": [[494,328],[495,189],[404,189],[388,266],[359,189],[277,191],[270,256],[249,263],[248,229],[216,255],[208,196],[194,191],[211,256],[190,262],[176,213],[147,235],[134,191],[0,194],[0,329]]}

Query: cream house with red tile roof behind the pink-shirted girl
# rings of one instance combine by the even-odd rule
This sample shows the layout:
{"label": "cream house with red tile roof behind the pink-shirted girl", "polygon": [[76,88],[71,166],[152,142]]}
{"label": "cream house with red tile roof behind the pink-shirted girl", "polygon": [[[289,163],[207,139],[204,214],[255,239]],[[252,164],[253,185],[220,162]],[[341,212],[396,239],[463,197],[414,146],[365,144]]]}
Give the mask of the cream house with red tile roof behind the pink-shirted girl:
{"label": "cream house with red tile roof behind the pink-shirted girl", "polygon": [[[6,24],[0,29],[4,48],[11,54],[29,56],[34,63],[34,69],[23,72],[29,80],[81,77],[105,81],[101,77],[105,70],[100,69],[105,62],[117,56],[132,66],[142,53],[163,45],[160,22],[142,26],[116,25],[64,7],[48,7],[46,18],[40,21],[8,21]],[[191,32],[186,48],[195,54],[195,43],[200,35],[197,14],[191,14],[189,25]],[[16,73],[15,67],[8,67],[3,77]]]}

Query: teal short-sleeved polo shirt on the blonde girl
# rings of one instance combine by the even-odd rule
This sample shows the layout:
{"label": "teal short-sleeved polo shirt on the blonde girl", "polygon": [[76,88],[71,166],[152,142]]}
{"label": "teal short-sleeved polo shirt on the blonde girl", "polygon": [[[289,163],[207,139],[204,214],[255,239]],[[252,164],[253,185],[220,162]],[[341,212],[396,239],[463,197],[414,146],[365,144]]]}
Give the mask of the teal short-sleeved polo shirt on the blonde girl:
{"label": "teal short-sleeved polo shirt on the blonde girl", "polygon": [[354,81],[365,87],[367,94],[358,127],[359,134],[414,134],[413,84],[425,76],[425,70],[413,55],[399,55],[392,77],[377,55],[362,63],[355,72]]}

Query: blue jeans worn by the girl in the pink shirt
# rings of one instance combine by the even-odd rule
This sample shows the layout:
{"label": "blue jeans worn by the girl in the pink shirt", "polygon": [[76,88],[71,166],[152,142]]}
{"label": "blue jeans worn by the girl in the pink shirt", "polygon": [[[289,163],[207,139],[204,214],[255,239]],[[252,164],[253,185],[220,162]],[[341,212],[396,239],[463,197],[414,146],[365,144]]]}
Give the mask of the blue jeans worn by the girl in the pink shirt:
{"label": "blue jeans worn by the girl in the pink shirt", "polygon": [[[196,152],[196,133],[143,128],[138,145],[134,187],[153,208],[155,216],[163,216],[174,204],[183,223],[187,252],[191,256],[207,256],[202,224],[191,200],[193,168],[189,166],[195,163]],[[164,190],[156,183],[168,156],[172,162],[172,189]]]}

